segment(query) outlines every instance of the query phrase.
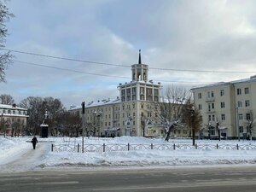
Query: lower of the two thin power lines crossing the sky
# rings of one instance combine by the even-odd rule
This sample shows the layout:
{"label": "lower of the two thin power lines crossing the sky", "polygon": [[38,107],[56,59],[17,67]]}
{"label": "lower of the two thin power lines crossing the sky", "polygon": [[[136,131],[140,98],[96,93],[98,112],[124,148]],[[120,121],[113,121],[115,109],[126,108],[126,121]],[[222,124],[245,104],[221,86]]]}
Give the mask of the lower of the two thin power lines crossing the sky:
{"label": "lower of the two thin power lines crossing the sky", "polygon": [[[56,69],[56,70],[62,70],[62,71],[73,72],[73,73],[83,73],[83,74],[89,74],[89,75],[95,75],[95,76],[104,76],[104,77],[108,77],[108,78],[131,79],[131,78],[124,77],[124,76],[81,72],[81,71],[78,71],[78,70],[61,68],[61,67],[53,67],[53,66],[38,64],[38,63],[34,63],[34,62],[26,62],[26,61],[18,61],[18,60],[13,60],[13,61],[19,62],[21,64],[37,66],[37,67],[53,68],[53,69]],[[165,82],[165,83],[180,83],[180,84],[212,84],[212,83],[216,83],[216,82],[196,82],[196,81],[192,82],[192,81],[168,81],[168,80],[155,80],[155,81],[160,81],[160,82]]]}

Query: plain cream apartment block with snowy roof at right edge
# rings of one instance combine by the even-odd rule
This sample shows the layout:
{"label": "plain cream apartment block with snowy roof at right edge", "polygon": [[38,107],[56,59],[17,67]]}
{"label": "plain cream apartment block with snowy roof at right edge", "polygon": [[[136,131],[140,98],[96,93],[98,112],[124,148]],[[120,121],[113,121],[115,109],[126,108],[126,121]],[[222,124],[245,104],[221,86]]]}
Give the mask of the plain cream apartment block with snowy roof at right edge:
{"label": "plain cream apartment block with snowy roof at right edge", "polygon": [[256,137],[256,76],[191,89],[204,137]]}

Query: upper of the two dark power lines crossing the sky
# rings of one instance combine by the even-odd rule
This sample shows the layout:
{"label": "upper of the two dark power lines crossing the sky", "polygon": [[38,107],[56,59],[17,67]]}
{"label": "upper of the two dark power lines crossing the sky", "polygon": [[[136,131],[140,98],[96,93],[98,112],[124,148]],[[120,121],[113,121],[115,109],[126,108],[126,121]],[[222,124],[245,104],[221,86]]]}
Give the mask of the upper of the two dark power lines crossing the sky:
{"label": "upper of the two dark power lines crossing the sky", "polygon": [[[1,49],[3,49],[3,48],[1,48]],[[26,54],[26,55],[43,56],[43,57],[47,57],[47,58],[60,59],[60,60],[66,60],[66,61],[78,61],[78,62],[91,63],[91,64],[96,64],[96,65],[106,65],[106,66],[113,66],[113,67],[131,67],[131,65],[119,65],[119,64],[108,63],[108,62],[78,60],[78,59],[72,59],[72,58],[67,58],[67,57],[37,54],[37,53],[20,51],[20,50],[15,50],[15,49],[3,49],[3,50],[8,50],[8,51],[12,51],[12,52],[15,52],[15,53]],[[247,72],[247,71],[237,72],[237,71],[174,69],[174,68],[160,68],[160,67],[149,67],[149,69],[162,70],[162,71],[174,71],[174,72],[191,72],[191,73],[256,73],[256,72],[253,72],[253,71],[251,71],[251,72]]]}

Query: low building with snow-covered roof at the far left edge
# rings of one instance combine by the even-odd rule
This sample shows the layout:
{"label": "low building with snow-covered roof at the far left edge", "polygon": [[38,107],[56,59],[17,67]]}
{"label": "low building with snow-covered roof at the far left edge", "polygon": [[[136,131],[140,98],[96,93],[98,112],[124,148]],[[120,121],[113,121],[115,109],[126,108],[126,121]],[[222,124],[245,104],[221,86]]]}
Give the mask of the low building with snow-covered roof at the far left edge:
{"label": "low building with snow-covered roof at the far left edge", "polygon": [[0,104],[0,133],[8,136],[24,134],[28,117],[26,108]]}

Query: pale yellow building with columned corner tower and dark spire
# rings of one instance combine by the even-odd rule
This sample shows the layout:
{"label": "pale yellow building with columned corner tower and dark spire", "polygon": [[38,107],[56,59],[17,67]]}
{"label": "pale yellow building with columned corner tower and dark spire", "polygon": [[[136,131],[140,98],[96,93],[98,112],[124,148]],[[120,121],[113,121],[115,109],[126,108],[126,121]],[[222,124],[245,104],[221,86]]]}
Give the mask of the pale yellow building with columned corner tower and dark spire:
{"label": "pale yellow building with columned corner tower and dark spire", "polygon": [[[154,103],[160,102],[160,82],[148,80],[148,65],[143,64],[141,50],[138,63],[131,65],[131,81],[118,85],[119,96],[85,103],[85,131],[91,136],[143,136],[164,134],[155,127]],[[70,111],[81,114],[81,108]]]}

